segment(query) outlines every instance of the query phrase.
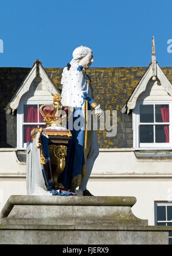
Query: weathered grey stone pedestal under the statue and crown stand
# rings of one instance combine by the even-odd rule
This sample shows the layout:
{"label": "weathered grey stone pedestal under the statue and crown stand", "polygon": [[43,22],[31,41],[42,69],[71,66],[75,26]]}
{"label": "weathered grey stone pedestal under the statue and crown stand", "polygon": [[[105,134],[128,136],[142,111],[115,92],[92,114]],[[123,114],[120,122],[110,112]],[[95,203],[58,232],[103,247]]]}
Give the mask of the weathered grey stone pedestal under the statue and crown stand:
{"label": "weathered grey stone pedestal under the statue and crown stand", "polygon": [[1,211],[0,244],[166,245],[170,227],[147,226],[135,197],[10,196]]}

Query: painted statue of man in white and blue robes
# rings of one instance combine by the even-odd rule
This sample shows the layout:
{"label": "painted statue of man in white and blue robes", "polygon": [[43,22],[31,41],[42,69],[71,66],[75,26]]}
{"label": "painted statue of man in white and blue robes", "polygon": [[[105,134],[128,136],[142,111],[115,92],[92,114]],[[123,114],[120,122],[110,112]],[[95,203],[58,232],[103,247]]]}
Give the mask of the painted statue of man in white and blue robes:
{"label": "painted statue of man in white and blue robes", "polygon": [[[62,72],[61,103],[63,106],[73,107],[73,117],[83,117],[87,121],[85,111],[95,110],[97,117],[101,117],[103,111],[100,105],[91,98],[91,79],[85,69],[93,63],[92,50],[80,46],[73,51],[73,59]],[[58,177],[65,190],[75,189],[76,195],[92,196],[87,190],[87,183],[93,164],[99,154],[96,131],[80,129],[71,131],[72,138],[68,145],[68,156],[64,171]],[[87,136],[86,136],[87,134]],[[44,164],[40,162],[40,149],[37,141],[40,133],[37,133],[33,143],[27,149],[27,173],[26,184],[28,195],[52,195],[51,189],[45,185],[45,177],[42,170]],[[79,187],[79,189],[76,189]],[[56,195],[56,194],[55,194]]]}

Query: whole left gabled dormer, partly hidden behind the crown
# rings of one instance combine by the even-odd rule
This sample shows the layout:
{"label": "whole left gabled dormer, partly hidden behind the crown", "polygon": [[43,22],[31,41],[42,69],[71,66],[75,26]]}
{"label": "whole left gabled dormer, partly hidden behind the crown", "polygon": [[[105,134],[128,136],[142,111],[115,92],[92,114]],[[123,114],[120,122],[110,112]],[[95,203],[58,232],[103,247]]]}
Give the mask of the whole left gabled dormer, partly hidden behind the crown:
{"label": "whole left gabled dormer, partly hidden behind the crown", "polygon": [[45,127],[39,108],[42,104],[52,104],[54,94],[60,94],[60,91],[54,86],[41,61],[36,60],[6,107],[9,114],[14,114],[17,110],[17,143],[16,137],[15,142],[13,141],[13,145],[17,144],[17,149],[26,149],[34,128]]}

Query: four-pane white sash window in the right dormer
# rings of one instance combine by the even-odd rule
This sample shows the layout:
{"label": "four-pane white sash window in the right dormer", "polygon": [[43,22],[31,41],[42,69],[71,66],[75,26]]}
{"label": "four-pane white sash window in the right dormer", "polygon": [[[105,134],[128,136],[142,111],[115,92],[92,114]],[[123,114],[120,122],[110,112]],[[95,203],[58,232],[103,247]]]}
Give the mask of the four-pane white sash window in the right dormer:
{"label": "four-pane white sash window in the right dormer", "polygon": [[172,102],[137,102],[134,109],[135,148],[171,148]]}

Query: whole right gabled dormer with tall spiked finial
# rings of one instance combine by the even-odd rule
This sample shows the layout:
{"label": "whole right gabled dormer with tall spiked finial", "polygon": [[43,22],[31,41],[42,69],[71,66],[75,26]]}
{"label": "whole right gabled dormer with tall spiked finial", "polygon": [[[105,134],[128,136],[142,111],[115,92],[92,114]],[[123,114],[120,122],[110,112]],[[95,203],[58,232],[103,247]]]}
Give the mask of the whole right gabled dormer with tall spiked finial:
{"label": "whole right gabled dormer with tall spiked finial", "polygon": [[155,57],[128,99],[124,111],[132,110],[133,148],[171,149],[172,86]]}

